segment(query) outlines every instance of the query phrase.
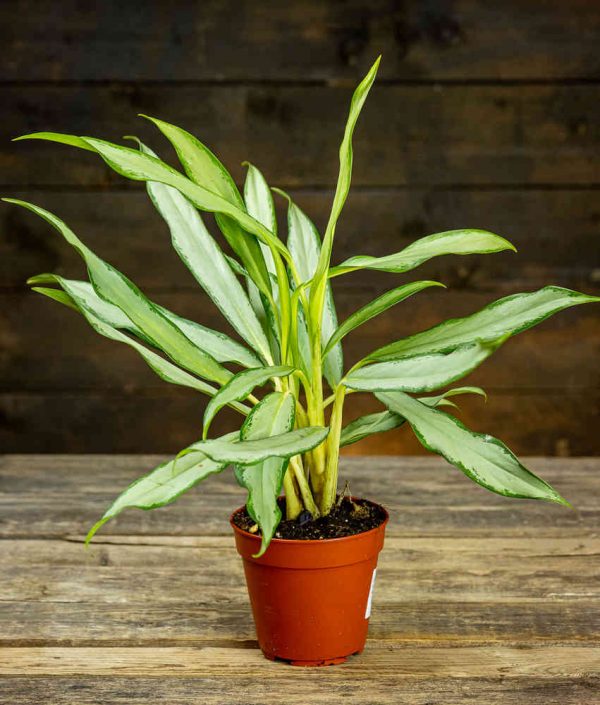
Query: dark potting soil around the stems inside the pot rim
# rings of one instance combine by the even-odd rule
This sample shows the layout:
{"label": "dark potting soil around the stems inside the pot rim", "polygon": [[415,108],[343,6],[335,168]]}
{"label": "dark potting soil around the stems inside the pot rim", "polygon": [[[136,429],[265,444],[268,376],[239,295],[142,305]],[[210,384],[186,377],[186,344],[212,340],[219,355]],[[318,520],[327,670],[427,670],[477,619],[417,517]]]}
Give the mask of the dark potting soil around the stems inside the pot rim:
{"label": "dark potting soil around the stems inside the pot rim", "polygon": [[[285,500],[279,500],[285,516]],[[365,499],[338,498],[334,509],[325,517],[313,519],[310,512],[302,512],[297,519],[281,521],[275,532],[277,539],[315,540],[338,539],[362,534],[379,526],[385,519],[383,509]],[[246,507],[233,515],[234,524],[244,531],[260,536],[260,529],[246,511]]]}

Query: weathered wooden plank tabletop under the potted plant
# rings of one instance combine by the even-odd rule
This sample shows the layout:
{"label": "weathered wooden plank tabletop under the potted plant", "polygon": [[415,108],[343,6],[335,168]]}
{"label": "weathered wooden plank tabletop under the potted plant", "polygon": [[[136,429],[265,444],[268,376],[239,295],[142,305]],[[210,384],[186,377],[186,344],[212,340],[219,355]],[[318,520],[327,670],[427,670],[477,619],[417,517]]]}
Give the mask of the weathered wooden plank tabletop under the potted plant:
{"label": "weathered wooden plank tabletop under the potted plant", "polygon": [[157,456],[0,460],[0,703],[600,703],[600,461],[532,458],[575,511],[510,501],[437,458],[345,458],[385,504],[367,649],[342,666],[265,660],[228,525],[229,474],[129,511]]}

